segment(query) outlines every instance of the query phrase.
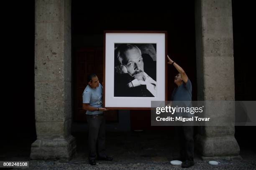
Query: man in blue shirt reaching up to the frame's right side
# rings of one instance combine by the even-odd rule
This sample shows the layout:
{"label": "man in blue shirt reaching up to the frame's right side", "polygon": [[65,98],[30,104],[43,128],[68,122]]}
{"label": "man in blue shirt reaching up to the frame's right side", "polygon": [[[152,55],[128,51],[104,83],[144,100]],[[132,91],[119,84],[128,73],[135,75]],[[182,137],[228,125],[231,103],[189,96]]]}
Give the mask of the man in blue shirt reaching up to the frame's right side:
{"label": "man in blue shirt reaching up to the frame's right side", "polygon": [[[192,84],[187,77],[186,72],[180,67],[176,62],[168,57],[168,64],[173,65],[179,72],[174,77],[174,83],[177,85],[172,92],[171,100],[173,103],[182,103],[184,107],[191,107],[192,101]],[[184,102],[177,102],[184,101]],[[182,113],[181,116],[191,117],[190,113]],[[180,144],[180,157],[176,160],[182,161],[182,168],[189,168],[194,165],[194,127],[193,126],[180,126],[177,127],[179,134],[179,144]]]}

